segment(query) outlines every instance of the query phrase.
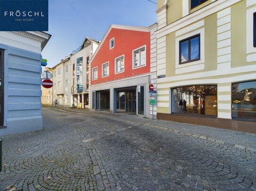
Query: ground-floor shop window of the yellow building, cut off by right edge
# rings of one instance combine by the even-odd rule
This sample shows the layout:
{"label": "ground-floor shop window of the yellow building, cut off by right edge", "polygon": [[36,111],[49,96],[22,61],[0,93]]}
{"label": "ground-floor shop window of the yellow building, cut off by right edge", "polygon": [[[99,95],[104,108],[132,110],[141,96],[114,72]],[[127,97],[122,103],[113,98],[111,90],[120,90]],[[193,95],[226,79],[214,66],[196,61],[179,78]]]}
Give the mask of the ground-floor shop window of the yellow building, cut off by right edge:
{"label": "ground-floor shop window of the yellow building, cut off by right edge", "polygon": [[232,84],[232,118],[256,120],[256,81]]}

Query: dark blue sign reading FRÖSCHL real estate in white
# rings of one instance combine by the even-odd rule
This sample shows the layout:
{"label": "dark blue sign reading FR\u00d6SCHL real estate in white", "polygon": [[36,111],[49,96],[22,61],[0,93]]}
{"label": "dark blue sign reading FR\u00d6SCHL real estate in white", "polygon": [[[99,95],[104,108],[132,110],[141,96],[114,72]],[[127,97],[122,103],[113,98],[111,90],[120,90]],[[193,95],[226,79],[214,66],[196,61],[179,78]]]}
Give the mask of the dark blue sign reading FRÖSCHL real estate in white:
{"label": "dark blue sign reading FR\u00d6SCHL real estate in white", "polygon": [[48,31],[48,0],[0,0],[0,31]]}

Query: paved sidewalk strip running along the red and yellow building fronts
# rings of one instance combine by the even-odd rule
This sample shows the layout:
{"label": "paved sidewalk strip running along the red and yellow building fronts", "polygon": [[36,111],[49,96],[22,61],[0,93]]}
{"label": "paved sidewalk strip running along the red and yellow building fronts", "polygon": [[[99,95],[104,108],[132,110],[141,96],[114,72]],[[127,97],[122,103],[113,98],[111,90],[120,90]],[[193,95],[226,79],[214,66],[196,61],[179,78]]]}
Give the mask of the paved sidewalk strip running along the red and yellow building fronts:
{"label": "paved sidewalk strip running along the red and yellow building fronts", "polygon": [[[85,109],[76,109],[76,108],[67,108],[61,107],[58,109],[83,113],[83,114],[91,114],[91,115],[99,115],[99,114],[107,114],[107,115],[119,115],[125,121],[146,121],[144,125],[157,128],[161,131],[171,131],[176,134],[182,134],[188,137],[194,137],[198,139],[204,139],[211,142],[215,142],[218,144],[223,144],[226,146],[232,146],[237,149],[241,149],[244,151],[251,151],[256,153],[256,134],[233,131],[233,130],[224,130],[220,128],[207,127],[201,125],[194,125],[188,123],[180,123],[180,122],[171,122],[164,120],[152,120],[141,118],[136,115],[127,115],[125,113],[110,113],[109,111],[89,111]],[[142,120],[143,119],[143,120]]]}

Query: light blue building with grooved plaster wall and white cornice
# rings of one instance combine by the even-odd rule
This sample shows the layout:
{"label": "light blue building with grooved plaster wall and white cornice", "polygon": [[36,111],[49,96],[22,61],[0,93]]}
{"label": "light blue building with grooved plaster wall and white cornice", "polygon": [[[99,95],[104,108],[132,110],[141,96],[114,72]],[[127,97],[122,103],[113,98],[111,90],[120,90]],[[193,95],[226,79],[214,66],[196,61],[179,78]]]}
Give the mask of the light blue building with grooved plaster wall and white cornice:
{"label": "light blue building with grooved plaster wall and white cornice", "polygon": [[42,129],[41,50],[50,37],[0,32],[0,136]]}

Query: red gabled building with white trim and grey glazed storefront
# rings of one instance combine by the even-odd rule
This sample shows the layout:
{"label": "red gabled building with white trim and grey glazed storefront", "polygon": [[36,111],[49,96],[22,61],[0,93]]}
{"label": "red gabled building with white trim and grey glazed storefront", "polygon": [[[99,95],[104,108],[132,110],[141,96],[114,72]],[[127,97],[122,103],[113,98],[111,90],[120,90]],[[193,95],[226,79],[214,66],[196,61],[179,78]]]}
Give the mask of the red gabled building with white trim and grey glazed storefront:
{"label": "red gabled building with white trim and grey glazed storefront", "polygon": [[149,107],[149,84],[156,85],[156,30],[157,24],[110,25],[91,58],[91,109],[156,116]]}

